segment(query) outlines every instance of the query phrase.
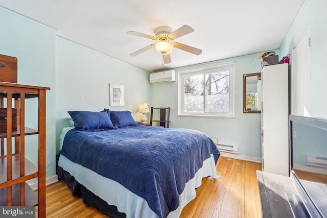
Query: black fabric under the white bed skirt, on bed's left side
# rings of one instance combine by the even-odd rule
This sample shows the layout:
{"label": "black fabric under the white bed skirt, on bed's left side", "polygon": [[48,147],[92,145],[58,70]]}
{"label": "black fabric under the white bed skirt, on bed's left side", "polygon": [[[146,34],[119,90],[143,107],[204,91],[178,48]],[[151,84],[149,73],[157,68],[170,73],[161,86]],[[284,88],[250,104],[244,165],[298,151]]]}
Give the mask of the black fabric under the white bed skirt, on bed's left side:
{"label": "black fabric under the white bed skirt, on bed's left side", "polygon": [[87,205],[97,208],[110,218],[126,218],[126,213],[119,212],[114,205],[108,205],[107,202],[89,191],[86,187],[81,185],[68,172],[64,171],[62,167],[57,165],[57,174],[59,179],[65,180],[67,186],[72,190],[73,196],[81,196],[83,202]]}

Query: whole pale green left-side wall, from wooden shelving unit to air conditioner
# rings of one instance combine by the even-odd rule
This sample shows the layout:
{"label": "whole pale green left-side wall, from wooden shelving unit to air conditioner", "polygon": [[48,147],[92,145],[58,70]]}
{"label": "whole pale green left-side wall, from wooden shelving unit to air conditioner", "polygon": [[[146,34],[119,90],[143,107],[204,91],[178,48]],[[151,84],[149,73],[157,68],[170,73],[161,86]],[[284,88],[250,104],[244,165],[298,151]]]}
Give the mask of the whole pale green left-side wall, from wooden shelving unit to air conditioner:
{"label": "whole pale green left-side wall, from wooden shelving unit to air conditioner", "polygon": [[[55,180],[59,136],[68,110],[130,110],[151,96],[148,72],[56,36],[56,30],[0,7],[0,54],[18,58],[18,83],[46,92],[46,178]],[[125,88],[125,106],[109,106],[109,83]],[[31,108],[31,107],[32,108]],[[28,100],[26,126],[37,129],[37,102]],[[37,163],[37,137],[26,137],[26,156]],[[51,182],[51,181],[50,181]]]}

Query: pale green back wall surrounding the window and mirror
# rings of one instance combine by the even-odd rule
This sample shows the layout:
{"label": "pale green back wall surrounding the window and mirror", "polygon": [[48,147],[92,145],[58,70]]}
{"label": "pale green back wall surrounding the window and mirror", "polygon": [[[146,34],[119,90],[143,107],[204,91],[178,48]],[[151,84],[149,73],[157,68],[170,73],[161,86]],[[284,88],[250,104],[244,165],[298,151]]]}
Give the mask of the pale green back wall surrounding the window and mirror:
{"label": "pale green back wall surrounding the window and mirror", "polygon": [[[278,54],[278,51],[276,51]],[[171,109],[170,127],[199,130],[218,143],[239,147],[239,154],[250,157],[261,157],[261,115],[243,113],[243,74],[261,71],[262,53],[246,55],[225,60],[213,61],[194,66],[176,68],[176,82],[152,84],[152,99],[149,107],[168,107]],[[235,117],[185,117],[177,116],[178,106],[178,71],[235,64]]]}

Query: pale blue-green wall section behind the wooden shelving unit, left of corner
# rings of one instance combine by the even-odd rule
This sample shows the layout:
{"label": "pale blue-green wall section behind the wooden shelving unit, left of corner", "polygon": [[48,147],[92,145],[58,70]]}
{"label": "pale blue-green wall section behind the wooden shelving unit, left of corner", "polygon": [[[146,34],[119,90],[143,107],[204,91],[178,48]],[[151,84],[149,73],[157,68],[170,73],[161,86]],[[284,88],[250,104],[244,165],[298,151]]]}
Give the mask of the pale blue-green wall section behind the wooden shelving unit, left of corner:
{"label": "pale blue-green wall section behind the wooden shelving unit, left of corner", "polygon": [[[46,91],[46,177],[50,177],[56,174],[56,31],[2,7],[0,20],[0,54],[17,57],[18,83],[51,88]],[[27,100],[26,110],[26,126],[37,129],[37,117],[30,113],[37,111],[37,101]],[[26,156],[37,163],[37,137],[26,136],[25,143]]]}

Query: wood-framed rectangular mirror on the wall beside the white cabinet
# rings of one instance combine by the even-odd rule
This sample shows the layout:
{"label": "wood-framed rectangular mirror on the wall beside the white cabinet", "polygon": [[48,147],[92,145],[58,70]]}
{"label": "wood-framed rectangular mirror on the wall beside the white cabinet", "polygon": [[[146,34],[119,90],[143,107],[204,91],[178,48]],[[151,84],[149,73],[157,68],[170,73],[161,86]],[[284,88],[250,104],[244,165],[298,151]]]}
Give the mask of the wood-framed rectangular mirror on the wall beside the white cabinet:
{"label": "wood-framed rectangular mirror on the wall beside the white cabinet", "polygon": [[261,73],[243,75],[243,113],[261,113]]}

